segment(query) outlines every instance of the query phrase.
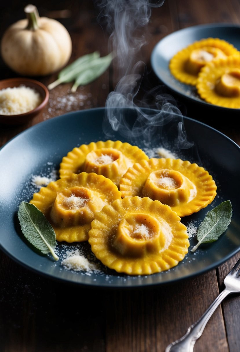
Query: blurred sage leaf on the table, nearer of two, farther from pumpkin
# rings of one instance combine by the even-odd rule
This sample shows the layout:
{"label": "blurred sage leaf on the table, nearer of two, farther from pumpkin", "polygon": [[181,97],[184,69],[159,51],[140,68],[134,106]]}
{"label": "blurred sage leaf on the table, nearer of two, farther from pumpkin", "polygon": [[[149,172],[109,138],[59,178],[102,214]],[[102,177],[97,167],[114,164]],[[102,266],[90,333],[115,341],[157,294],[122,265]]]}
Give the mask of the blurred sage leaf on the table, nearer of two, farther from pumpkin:
{"label": "blurred sage leaf on the table, nearer of two, farther from pumpkin", "polygon": [[76,92],[78,86],[84,86],[100,77],[109,67],[112,62],[113,55],[112,53],[100,57],[96,60],[89,62],[87,70],[84,70],[79,73],[77,76],[74,85],[71,88],[71,92]]}

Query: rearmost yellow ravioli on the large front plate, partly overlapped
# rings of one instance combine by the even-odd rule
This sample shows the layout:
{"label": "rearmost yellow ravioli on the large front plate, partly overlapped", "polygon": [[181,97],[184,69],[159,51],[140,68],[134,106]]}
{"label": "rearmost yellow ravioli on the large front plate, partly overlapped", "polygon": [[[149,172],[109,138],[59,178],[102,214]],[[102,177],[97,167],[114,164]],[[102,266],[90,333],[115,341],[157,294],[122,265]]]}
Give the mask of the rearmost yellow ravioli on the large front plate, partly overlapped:
{"label": "rearmost yellow ravioli on the large front plate, partly overlapped", "polygon": [[60,177],[69,176],[71,173],[96,172],[113,181],[119,186],[119,181],[127,169],[141,159],[149,157],[137,146],[122,143],[120,140],[106,142],[91,142],[75,147],[67,156],[63,157],[60,164]]}

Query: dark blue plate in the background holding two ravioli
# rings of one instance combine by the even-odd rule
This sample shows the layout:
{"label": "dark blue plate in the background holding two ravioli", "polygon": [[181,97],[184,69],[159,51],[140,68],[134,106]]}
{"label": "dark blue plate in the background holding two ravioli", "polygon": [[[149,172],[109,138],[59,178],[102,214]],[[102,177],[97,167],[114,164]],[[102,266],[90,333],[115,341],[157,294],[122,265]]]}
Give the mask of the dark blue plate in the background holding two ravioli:
{"label": "dark blue plate in the background holding two ravioli", "polygon": [[169,61],[178,51],[184,49],[196,40],[209,37],[224,39],[233,44],[236,49],[240,50],[239,25],[214,23],[187,27],[169,34],[155,45],[151,55],[152,68],[157,77],[168,88],[184,96],[184,98],[190,99],[203,106],[214,107],[221,111],[239,112],[239,109],[230,109],[207,103],[198,96],[195,87],[179,82],[169,70]]}

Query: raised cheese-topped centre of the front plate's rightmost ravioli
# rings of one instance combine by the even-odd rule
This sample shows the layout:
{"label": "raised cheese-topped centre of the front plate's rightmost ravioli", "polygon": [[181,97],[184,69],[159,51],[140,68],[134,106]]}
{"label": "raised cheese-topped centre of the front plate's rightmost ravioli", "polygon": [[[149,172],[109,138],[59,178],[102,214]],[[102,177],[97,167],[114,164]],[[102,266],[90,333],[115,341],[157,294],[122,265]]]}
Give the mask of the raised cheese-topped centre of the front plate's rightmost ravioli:
{"label": "raised cheese-topped centre of the front plate's rightmost ravioli", "polygon": [[196,186],[181,172],[162,169],[151,172],[143,190],[143,197],[159,200],[170,207],[188,203],[197,194]]}

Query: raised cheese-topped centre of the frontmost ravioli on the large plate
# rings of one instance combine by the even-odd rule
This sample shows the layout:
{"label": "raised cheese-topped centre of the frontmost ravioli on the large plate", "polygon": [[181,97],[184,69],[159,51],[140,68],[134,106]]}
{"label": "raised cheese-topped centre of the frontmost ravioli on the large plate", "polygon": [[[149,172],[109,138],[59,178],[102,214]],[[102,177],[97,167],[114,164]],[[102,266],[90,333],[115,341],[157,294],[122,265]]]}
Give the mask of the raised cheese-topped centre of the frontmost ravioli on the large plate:
{"label": "raised cheese-topped centre of the frontmost ravioli on the large plate", "polygon": [[128,213],[117,227],[113,247],[124,256],[143,257],[146,253],[160,252],[165,242],[156,218],[144,213]]}

